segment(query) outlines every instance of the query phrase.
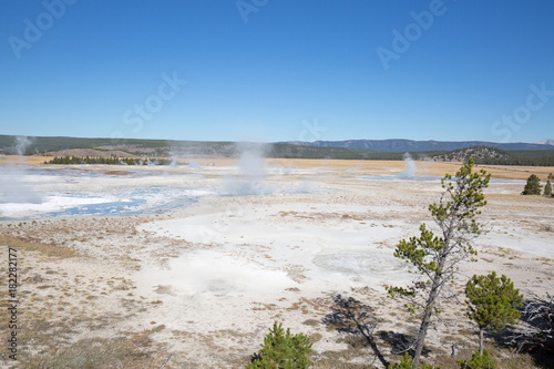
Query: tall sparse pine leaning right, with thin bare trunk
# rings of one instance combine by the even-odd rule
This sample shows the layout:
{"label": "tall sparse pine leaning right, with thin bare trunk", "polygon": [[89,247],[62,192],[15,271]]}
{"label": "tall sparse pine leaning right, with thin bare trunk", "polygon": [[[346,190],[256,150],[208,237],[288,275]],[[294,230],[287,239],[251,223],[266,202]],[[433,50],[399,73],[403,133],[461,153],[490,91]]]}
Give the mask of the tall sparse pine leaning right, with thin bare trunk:
{"label": "tall sparse pine leaning right, with thin bare trunk", "polygon": [[444,295],[443,287],[453,281],[459,264],[476,254],[472,239],[479,236],[481,227],[475,216],[481,213],[479,208],[486,205],[483,189],[489,186],[491,175],[483,170],[472,173],[474,164],[470,157],[454,177],[447,174],[441,181],[444,192],[440,202],[429,206],[440,235],[435,236],[422,224],[420,237],[402,239],[394,250],[394,256],[413,265],[414,273],[423,279],[411,288],[388,288],[392,297],[407,299],[404,306],[421,319],[413,355],[416,368],[431,318],[440,314],[438,303]]}

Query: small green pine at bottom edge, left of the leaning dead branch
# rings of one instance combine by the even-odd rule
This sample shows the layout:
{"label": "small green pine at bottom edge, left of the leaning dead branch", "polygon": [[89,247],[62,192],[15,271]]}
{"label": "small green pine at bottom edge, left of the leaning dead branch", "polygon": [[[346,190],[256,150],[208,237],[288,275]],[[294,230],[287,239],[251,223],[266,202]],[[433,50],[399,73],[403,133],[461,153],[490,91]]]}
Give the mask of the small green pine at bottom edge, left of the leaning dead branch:
{"label": "small green pine at bottom edge, left of the leaning dead branch", "polygon": [[297,369],[309,368],[311,361],[308,355],[311,352],[311,342],[308,336],[298,334],[290,335],[290,329],[283,329],[283,325],[274,322],[273,330],[264,338],[264,344],[248,369]]}

